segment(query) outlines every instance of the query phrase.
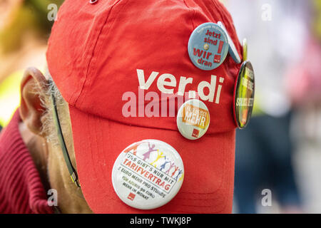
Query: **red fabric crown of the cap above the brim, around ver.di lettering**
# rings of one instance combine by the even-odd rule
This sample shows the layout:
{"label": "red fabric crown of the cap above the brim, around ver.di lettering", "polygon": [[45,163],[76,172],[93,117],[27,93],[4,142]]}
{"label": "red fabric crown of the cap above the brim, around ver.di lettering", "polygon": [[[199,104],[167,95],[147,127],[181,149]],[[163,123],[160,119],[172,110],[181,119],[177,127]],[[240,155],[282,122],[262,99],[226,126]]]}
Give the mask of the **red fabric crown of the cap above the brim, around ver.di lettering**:
{"label": "red fabric crown of the cap above the brim, around ver.di lettering", "polygon": [[[108,120],[149,128],[177,130],[175,117],[141,118],[123,116],[123,94],[138,98],[137,69],[145,81],[153,71],[158,77],[145,93],[161,97],[157,80],[163,73],[193,78],[185,91],[198,91],[211,75],[223,76],[220,105],[205,101],[211,114],[208,133],[236,127],[233,119],[233,89],[240,66],[227,56],[213,71],[196,68],[188,56],[188,39],[194,28],[205,22],[223,21],[241,53],[230,14],[218,1],[64,1],[58,12],[46,54],[49,72],[63,98],[85,113]],[[241,56],[241,55],[240,55]],[[218,82],[217,82],[218,84]],[[218,85],[216,85],[218,88]],[[161,99],[158,100],[161,107]],[[145,101],[145,105],[149,103]],[[138,110],[138,108],[137,108]],[[215,115],[213,115],[215,113]],[[214,118],[215,117],[215,118]]]}

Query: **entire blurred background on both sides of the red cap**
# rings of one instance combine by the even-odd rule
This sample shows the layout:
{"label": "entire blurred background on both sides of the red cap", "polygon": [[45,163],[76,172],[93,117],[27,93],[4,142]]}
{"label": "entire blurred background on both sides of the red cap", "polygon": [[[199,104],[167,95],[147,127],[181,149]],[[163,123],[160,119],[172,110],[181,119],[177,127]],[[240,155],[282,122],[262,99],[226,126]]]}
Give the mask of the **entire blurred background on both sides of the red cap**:
{"label": "entire blurred background on both sides of the red cap", "polygon": [[[28,66],[44,68],[63,0],[0,0],[0,130]],[[234,213],[321,213],[321,0],[223,0],[255,70],[237,130]]]}

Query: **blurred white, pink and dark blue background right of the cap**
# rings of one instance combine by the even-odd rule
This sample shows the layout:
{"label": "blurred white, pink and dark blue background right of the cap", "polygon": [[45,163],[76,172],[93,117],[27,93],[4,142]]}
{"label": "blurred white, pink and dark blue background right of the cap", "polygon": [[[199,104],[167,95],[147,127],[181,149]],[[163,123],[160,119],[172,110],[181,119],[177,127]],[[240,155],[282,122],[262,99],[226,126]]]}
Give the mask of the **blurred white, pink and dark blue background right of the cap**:
{"label": "blurred white, pink and dark blue background right of the cap", "polygon": [[255,112],[236,137],[234,211],[320,213],[321,1],[225,5],[256,76]]}

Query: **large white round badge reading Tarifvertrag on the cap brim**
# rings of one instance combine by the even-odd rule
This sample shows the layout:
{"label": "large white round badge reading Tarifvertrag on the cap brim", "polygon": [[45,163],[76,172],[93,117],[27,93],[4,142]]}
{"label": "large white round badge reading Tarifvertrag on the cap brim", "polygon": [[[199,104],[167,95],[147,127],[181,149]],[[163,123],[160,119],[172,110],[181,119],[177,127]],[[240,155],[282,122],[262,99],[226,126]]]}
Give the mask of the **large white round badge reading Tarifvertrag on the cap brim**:
{"label": "large white round badge reading Tarifvertrag on the cap brim", "polygon": [[183,179],[180,155],[159,140],[129,145],[113,165],[113,189],[124,203],[137,209],[155,209],[170,202]]}

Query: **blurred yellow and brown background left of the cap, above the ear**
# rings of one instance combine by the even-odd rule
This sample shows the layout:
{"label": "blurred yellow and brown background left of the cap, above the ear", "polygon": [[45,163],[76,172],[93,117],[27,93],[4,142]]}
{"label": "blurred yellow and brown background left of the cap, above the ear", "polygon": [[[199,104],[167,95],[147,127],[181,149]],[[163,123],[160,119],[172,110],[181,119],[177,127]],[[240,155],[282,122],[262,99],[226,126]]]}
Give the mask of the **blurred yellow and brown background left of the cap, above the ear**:
{"label": "blurred yellow and brown background left of the cap, above the ear", "polygon": [[0,0],[0,125],[19,105],[24,69],[46,64],[46,43],[62,0]]}

